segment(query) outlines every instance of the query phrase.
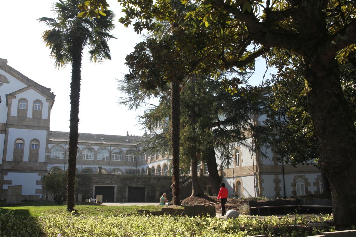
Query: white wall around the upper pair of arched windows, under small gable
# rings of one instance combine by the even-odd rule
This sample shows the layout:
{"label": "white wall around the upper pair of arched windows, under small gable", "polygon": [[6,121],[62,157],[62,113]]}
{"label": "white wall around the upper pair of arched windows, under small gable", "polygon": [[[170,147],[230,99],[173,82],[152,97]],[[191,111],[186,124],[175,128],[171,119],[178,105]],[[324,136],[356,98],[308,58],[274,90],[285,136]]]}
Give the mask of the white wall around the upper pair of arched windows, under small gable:
{"label": "white wall around the upper pair of arched windows, under small gable", "polygon": [[46,102],[46,98],[42,96],[41,94],[37,93],[33,89],[29,89],[26,91],[23,91],[22,93],[19,93],[16,95],[15,99],[12,99],[12,104],[11,104],[11,116],[17,116],[17,106],[19,99],[21,98],[26,98],[28,101],[27,104],[27,117],[32,118],[32,109],[33,109],[33,101],[35,100],[41,100],[42,102],[42,118],[47,119],[48,118],[48,102]]}

